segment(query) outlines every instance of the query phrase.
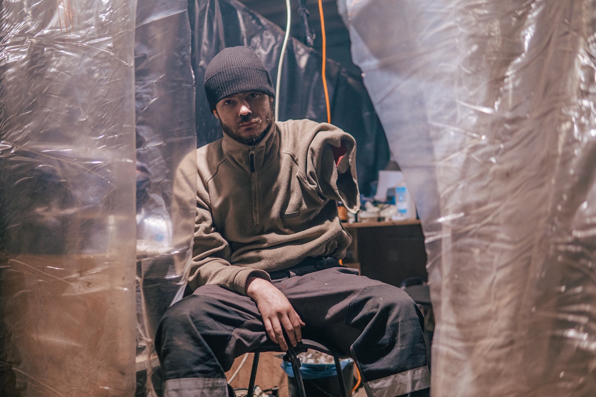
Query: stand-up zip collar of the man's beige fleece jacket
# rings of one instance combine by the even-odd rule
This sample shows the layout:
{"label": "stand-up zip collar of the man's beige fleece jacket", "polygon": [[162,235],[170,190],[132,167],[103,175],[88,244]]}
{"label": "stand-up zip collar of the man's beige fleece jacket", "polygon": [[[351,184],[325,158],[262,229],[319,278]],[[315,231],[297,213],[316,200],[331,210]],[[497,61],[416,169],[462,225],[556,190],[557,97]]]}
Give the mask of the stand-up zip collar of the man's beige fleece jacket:
{"label": "stand-up zip collar of the man's beige fleece jacket", "polygon": [[277,132],[275,123],[271,124],[268,132],[263,139],[256,145],[247,145],[238,142],[234,138],[224,133],[222,140],[222,149],[226,159],[236,167],[250,173],[250,153],[253,151],[254,170],[259,171],[269,167],[277,158],[277,152],[280,148],[280,135]]}

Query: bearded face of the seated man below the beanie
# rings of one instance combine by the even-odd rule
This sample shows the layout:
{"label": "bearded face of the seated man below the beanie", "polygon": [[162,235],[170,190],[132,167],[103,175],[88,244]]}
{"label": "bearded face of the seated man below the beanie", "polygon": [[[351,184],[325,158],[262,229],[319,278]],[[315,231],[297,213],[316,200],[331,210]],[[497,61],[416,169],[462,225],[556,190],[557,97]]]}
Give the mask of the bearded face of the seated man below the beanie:
{"label": "bearded face of the seated man below the beanie", "polygon": [[273,98],[262,92],[249,91],[226,96],[215,105],[215,117],[224,133],[238,142],[254,145],[274,121]]}

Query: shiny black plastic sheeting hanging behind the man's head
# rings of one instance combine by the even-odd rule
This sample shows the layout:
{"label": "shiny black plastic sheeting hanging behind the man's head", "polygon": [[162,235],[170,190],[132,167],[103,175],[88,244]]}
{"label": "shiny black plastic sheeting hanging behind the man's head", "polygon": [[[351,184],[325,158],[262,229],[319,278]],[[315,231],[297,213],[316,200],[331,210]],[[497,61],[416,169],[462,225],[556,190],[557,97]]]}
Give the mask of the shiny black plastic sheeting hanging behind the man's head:
{"label": "shiny black plastic sheeting hanging behind the man's head", "polygon": [[[202,146],[222,135],[219,121],[209,111],[203,89],[209,61],[226,47],[250,46],[268,68],[275,84],[284,31],[235,0],[189,0],[188,4],[193,30],[197,139],[198,146]],[[298,17],[296,12],[294,17]],[[281,71],[280,120],[327,121],[321,64],[321,54],[299,40],[288,41]],[[389,146],[362,82],[332,60],[327,60],[326,65],[331,123],[355,137],[360,191],[368,195],[370,182],[377,179],[378,170],[389,161]]]}

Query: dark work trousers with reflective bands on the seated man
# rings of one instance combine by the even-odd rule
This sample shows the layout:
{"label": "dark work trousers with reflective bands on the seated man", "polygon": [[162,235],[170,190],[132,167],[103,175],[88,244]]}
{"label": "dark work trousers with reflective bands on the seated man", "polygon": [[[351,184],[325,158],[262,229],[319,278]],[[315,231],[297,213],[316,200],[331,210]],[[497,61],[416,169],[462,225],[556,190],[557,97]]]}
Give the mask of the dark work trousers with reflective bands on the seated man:
{"label": "dark work trousers with reflective bands on the seated man", "polygon": [[[354,359],[370,397],[429,395],[423,317],[407,293],[338,265],[271,273],[312,339]],[[252,299],[205,285],[172,305],[157,353],[166,397],[225,397],[225,371],[246,352],[277,350]]]}

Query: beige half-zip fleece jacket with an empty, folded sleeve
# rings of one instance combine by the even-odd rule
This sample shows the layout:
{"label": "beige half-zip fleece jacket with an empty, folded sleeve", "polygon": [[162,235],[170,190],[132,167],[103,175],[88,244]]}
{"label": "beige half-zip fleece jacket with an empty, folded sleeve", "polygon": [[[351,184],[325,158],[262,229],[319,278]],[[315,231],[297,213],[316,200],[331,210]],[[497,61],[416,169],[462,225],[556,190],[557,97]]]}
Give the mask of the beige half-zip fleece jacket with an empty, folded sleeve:
{"label": "beige half-zip fleece jacket with an empty, folded sleeve", "polygon": [[[332,146],[346,147],[336,165]],[[327,123],[272,125],[256,146],[224,135],[197,149],[197,217],[192,289],[216,284],[246,295],[249,276],[292,267],[306,257],[343,258],[352,237],[336,200],[359,206],[356,142]]]}

